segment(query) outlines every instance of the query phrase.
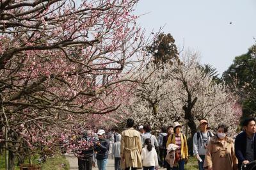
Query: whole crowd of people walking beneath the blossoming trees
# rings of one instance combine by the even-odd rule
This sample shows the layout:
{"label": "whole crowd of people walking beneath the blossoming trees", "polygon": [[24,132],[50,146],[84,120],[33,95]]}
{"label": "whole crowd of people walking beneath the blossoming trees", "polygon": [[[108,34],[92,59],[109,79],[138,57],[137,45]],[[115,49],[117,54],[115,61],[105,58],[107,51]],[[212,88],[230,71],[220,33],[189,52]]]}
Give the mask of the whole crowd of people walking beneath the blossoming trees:
{"label": "whole crowd of people walking beneath the blossoming trees", "polygon": [[[78,158],[79,170],[92,170],[94,162],[97,162],[99,170],[106,170],[109,157],[115,158],[115,170],[154,170],[159,167],[184,170],[189,153],[187,138],[181,129],[182,125],[174,122],[167,128],[161,128],[156,137],[151,134],[150,125],[141,125],[138,130],[134,128],[131,118],[121,133],[117,127],[108,133],[99,129],[99,141],[88,150],[83,150],[85,156]],[[244,120],[243,131],[236,139],[227,136],[226,125],[218,125],[216,132],[212,133],[208,121],[200,120],[198,132],[193,136],[193,154],[198,161],[198,169],[234,170],[243,165],[249,167],[249,163],[256,158],[255,132],[254,118]]]}

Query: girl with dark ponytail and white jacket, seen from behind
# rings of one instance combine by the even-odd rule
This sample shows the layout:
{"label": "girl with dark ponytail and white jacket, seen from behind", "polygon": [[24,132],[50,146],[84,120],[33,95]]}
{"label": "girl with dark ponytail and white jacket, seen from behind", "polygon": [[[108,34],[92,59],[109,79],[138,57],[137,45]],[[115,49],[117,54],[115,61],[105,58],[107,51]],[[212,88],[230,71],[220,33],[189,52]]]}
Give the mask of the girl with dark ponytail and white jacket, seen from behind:
{"label": "girl with dark ponytail and white jacket, seen from behind", "polygon": [[145,140],[145,147],[141,151],[143,170],[158,169],[158,159],[156,149],[152,146],[151,140]]}

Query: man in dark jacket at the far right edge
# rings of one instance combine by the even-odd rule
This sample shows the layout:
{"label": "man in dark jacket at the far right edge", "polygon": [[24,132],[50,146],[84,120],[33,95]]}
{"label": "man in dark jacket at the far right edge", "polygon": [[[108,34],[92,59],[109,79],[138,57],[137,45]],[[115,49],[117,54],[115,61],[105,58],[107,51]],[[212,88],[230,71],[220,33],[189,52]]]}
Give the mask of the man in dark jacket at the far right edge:
{"label": "man in dark jacket at the far right edge", "polygon": [[238,166],[248,164],[256,158],[256,123],[254,118],[247,118],[243,122],[244,132],[237,135],[235,153]]}

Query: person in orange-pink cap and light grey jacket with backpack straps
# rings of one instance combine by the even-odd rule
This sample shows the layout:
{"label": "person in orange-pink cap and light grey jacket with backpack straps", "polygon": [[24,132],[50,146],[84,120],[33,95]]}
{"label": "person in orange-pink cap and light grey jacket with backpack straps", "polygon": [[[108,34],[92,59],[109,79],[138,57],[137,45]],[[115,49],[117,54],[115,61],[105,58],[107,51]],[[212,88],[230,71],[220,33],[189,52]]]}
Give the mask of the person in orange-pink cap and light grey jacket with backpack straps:
{"label": "person in orange-pink cap and light grey jacket with backpack straps", "polygon": [[203,119],[199,123],[199,131],[193,137],[193,152],[198,161],[199,170],[204,170],[204,158],[206,153],[207,144],[213,134],[207,130],[208,121]]}

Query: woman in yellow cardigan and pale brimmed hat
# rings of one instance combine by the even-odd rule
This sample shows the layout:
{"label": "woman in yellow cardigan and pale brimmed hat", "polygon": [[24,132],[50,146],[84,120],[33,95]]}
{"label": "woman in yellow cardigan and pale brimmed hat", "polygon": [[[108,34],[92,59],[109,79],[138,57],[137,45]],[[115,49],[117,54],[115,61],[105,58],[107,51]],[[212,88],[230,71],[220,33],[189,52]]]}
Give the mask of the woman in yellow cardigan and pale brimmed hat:
{"label": "woman in yellow cardigan and pale brimmed hat", "polygon": [[179,122],[173,123],[174,134],[168,137],[168,141],[166,143],[166,148],[168,145],[173,143],[179,146],[177,150],[175,150],[175,163],[177,163],[177,167],[173,167],[173,169],[184,170],[186,162],[188,162],[188,144],[187,139],[181,131],[181,125]]}

